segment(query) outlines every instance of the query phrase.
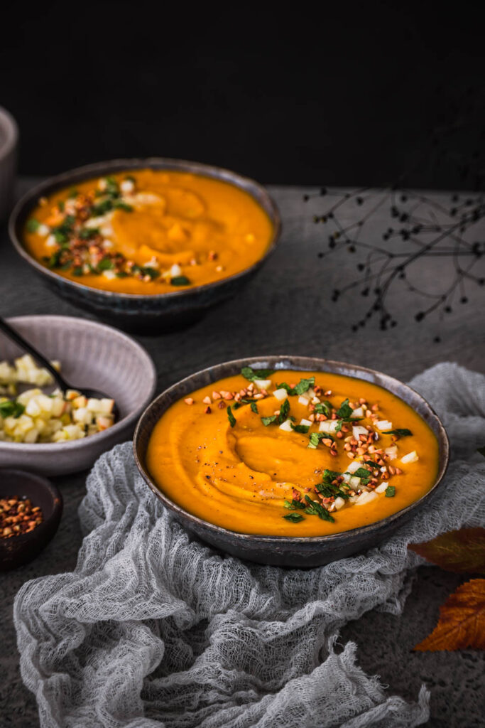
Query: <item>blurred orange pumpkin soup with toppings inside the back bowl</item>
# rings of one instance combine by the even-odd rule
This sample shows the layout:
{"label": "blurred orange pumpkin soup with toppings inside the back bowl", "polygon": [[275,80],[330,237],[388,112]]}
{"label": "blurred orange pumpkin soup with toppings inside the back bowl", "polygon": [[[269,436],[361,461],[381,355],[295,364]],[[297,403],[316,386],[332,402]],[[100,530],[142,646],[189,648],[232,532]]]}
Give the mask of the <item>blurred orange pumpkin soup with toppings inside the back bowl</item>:
{"label": "blurred orange pumpkin soup with toppings inside the back bowl", "polygon": [[273,236],[262,207],[220,180],[134,170],[39,200],[25,245],[92,288],[153,295],[217,281],[260,260]]}

